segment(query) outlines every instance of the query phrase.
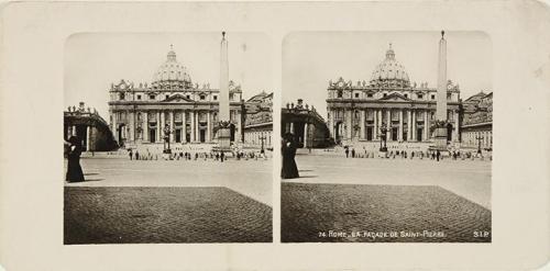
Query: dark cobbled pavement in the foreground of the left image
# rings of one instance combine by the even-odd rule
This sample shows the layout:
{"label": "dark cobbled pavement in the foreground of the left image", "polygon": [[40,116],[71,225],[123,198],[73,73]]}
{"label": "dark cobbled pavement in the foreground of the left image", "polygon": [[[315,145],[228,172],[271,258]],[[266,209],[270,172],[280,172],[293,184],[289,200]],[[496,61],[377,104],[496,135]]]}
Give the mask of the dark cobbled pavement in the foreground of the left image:
{"label": "dark cobbled pavement in the foreground of the left image", "polygon": [[65,190],[64,242],[271,242],[272,208],[227,188]]}

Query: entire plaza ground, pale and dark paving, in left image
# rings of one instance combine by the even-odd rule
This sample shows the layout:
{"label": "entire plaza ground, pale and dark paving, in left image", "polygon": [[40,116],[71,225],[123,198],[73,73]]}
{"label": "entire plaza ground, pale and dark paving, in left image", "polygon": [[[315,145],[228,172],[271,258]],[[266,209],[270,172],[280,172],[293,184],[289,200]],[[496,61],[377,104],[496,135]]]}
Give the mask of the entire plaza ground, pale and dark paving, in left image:
{"label": "entire plaza ground, pale and dark paving, in left image", "polygon": [[272,160],[80,160],[65,244],[270,242]]}

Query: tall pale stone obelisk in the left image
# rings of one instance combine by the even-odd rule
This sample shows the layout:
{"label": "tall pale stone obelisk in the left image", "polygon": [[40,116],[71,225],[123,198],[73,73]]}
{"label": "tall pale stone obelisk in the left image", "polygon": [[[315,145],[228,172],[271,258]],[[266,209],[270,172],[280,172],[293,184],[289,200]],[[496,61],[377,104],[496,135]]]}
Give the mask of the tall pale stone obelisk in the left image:
{"label": "tall pale stone obelisk in the left image", "polygon": [[218,105],[218,148],[231,151],[231,120],[229,115],[229,57],[226,32],[221,33],[220,44],[220,103]]}

